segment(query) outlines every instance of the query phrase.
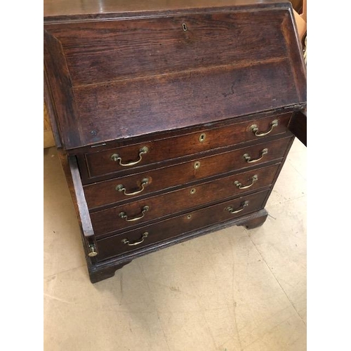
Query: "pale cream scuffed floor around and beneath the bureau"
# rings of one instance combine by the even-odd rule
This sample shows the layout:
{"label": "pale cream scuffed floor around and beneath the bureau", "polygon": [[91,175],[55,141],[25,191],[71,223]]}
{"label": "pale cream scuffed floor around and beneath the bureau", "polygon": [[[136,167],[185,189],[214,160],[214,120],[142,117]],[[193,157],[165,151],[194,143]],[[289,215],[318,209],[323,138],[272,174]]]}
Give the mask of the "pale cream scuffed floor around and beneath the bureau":
{"label": "pale cream scuffed floor around and beneath the bureau", "polygon": [[230,227],[88,279],[54,147],[44,150],[44,350],[306,350],[306,148],[254,230]]}

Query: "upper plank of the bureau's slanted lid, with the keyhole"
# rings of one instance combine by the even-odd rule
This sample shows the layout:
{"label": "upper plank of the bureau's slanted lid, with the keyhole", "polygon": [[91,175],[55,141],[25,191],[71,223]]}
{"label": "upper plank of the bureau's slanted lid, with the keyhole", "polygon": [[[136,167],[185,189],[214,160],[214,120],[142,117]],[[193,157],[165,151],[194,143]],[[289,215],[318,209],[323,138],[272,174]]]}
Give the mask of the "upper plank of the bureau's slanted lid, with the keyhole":
{"label": "upper plank of the bureau's slanted lid, with the keyhole", "polygon": [[[81,86],[233,63],[241,67],[272,58],[282,60],[286,48],[279,28],[285,14],[286,10],[180,15],[46,25],[46,30],[65,51],[73,85]],[[253,22],[260,23],[260,32],[251,29]]]}

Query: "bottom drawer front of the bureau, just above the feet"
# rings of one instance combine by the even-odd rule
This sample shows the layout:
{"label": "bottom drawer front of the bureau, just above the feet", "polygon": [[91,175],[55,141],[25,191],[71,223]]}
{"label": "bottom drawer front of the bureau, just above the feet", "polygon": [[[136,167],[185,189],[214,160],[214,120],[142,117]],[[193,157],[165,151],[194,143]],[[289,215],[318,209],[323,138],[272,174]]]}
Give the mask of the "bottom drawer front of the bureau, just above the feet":
{"label": "bottom drawer front of the bureau, just above the feet", "polygon": [[171,237],[222,223],[242,215],[258,211],[265,205],[268,191],[239,197],[221,204],[176,216],[159,223],[146,225],[137,230],[97,240],[98,261],[118,256],[128,251],[142,250]]}

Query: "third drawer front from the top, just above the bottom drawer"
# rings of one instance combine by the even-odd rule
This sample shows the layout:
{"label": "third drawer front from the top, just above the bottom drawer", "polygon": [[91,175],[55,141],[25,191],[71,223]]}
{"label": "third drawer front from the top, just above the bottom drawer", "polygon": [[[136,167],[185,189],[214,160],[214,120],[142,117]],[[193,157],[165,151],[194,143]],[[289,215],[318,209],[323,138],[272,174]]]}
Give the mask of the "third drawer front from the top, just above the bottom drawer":
{"label": "third drawer front from the top, just above the bottom drawer", "polygon": [[124,230],[272,184],[280,164],[91,213],[95,235]]}

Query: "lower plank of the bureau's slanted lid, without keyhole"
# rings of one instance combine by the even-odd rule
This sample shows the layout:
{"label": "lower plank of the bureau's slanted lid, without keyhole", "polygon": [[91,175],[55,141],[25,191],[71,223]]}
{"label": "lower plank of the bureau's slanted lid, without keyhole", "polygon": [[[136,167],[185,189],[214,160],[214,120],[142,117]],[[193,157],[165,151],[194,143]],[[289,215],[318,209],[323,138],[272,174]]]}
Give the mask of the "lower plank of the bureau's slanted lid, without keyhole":
{"label": "lower plank of the bureau's slanted lid, without keyhole", "polygon": [[[84,145],[298,103],[286,62],[79,86],[74,93]],[[264,96],[260,95],[263,88]]]}

